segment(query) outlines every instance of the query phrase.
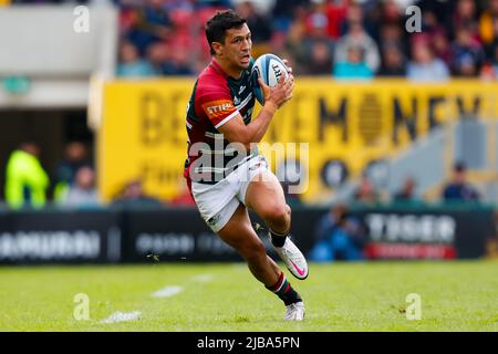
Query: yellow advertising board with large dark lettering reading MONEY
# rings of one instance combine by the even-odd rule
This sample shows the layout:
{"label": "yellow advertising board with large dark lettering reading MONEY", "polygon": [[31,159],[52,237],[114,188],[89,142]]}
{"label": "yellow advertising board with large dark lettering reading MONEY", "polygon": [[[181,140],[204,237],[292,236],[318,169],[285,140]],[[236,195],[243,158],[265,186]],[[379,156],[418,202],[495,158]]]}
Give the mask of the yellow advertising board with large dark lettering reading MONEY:
{"label": "yellow advertising board with large dark lettering reading MONEY", "polygon": [[[98,186],[105,199],[137,178],[148,194],[162,199],[179,192],[187,149],[185,112],[194,82],[106,84],[97,146]],[[328,163],[340,162],[349,177],[357,176],[370,163],[407,148],[432,127],[458,118],[496,118],[497,101],[498,83],[479,81],[298,79],[293,98],[277,113],[263,142],[308,144],[307,156],[297,154],[308,185],[302,199],[323,200],[333,192]],[[257,104],[253,118],[259,108]]]}

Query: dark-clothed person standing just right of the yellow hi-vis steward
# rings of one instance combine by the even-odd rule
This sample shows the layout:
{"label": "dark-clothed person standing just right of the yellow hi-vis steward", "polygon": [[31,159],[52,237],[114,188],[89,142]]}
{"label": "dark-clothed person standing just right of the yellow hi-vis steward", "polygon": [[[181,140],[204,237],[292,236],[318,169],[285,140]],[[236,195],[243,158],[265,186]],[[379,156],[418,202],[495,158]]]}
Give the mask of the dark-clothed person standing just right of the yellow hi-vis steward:
{"label": "dark-clothed person standing just right of the yellow hi-vis steward", "polygon": [[53,191],[55,202],[65,200],[70,186],[74,184],[76,171],[83,166],[90,166],[86,147],[81,142],[69,143],[65,147],[64,159],[55,168]]}

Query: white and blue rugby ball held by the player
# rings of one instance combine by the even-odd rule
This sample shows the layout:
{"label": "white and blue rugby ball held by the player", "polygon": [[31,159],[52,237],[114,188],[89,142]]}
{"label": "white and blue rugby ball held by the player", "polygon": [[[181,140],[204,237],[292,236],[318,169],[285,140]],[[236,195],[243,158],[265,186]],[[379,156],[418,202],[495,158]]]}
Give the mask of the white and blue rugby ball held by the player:
{"label": "white and blue rugby ball held by the player", "polygon": [[264,98],[262,94],[262,90],[259,86],[258,77],[261,77],[262,81],[270,87],[274,87],[283,76],[286,80],[289,76],[289,70],[283,61],[274,54],[263,54],[259,56],[255,64],[252,65],[252,93],[255,94],[258,102],[263,105]]}

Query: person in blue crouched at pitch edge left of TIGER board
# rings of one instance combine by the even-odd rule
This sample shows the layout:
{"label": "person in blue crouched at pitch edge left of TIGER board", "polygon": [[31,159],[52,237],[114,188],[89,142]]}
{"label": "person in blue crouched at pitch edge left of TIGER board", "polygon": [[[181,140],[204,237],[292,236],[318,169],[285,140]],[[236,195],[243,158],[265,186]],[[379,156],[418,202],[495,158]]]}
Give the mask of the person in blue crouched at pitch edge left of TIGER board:
{"label": "person in blue crouched at pitch edge left of TIGER board", "polygon": [[315,230],[315,243],[309,258],[315,262],[364,259],[365,230],[345,205],[338,205],[324,215]]}

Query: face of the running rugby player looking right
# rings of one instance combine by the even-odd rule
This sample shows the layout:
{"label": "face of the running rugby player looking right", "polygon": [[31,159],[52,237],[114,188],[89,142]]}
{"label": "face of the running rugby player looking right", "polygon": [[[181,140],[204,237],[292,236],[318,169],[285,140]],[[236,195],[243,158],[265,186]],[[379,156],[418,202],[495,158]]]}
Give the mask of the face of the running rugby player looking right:
{"label": "face of the running rugby player looking right", "polygon": [[251,60],[251,31],[247,24],[238,29],[227,30],[225,37],[224,54],[226,59],[238,69],[248,69]]}

